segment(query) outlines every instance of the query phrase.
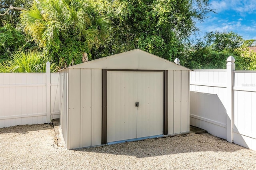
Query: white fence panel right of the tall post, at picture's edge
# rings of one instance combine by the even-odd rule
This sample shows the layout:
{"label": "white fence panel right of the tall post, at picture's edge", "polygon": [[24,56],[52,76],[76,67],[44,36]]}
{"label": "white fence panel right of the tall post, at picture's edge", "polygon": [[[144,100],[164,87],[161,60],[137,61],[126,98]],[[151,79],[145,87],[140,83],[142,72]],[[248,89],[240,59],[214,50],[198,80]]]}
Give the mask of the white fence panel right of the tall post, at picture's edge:
{"label": "white fence panel right of the tall post, at picture's edge", "polygon": [[234,143],[256,150],[256,71],[235,71],[234,78]]}

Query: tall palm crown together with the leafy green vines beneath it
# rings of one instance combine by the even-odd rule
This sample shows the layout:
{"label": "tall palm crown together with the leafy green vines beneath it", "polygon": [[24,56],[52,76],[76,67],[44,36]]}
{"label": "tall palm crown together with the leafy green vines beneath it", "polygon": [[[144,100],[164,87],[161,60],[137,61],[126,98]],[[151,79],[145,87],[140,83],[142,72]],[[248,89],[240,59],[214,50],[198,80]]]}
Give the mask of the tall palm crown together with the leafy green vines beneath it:
{"label": "tall palm crown together with the leafy green vines beneath it", "polygon": [[61,67],[81,63],[82,53],[104,40],[110,23],[89,0],[35,1],[22,12],[21,21],[44,54]]}

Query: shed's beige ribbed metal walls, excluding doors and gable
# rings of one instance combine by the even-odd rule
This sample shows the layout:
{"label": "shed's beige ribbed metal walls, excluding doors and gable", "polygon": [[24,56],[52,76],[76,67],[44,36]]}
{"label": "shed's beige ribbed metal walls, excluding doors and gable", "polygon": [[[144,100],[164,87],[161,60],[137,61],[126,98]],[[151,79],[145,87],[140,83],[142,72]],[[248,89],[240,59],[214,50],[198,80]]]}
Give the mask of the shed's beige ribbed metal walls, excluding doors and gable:
{"label": "shed's beige ribbed metal walls, excluding doors and gable", "polygon": [[[102,144],[102,69],[68,68],[67,110],[61,128],[66,148]],[[65,73],[63,73],[65,76]],[[63,79],[62,79],[63,80]],[[65,85],[65,83],[64,83]],[[60,86],[66,88],[65,86]],[[189,131],[189,71],[168,70],[168,134]],[[61,93],[64,95],[65,93]],[[65,100],[60,103],[65,103]],[[66,115],[65,115],[66,114]]]}

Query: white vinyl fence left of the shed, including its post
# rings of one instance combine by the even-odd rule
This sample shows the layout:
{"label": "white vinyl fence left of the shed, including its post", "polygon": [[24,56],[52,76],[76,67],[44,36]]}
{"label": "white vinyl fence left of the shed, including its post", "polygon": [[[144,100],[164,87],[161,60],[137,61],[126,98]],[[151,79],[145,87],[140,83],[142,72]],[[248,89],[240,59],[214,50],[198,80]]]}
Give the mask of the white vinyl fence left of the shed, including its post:
{"label": "white vinyl fence left of the shed, including its post", "polygon": [[59,118],[59,73],[0,73],[0,128]]}

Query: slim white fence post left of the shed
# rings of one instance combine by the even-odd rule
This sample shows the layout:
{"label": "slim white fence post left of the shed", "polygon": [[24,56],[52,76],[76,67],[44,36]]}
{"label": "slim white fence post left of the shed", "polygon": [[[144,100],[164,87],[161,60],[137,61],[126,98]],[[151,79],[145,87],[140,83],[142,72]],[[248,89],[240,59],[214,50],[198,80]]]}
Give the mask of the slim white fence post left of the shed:
{"label": "slim white fence post left of the shed", "polygon": [[51,122],[51,69],[50,62],[46,63],[46,123]]}

